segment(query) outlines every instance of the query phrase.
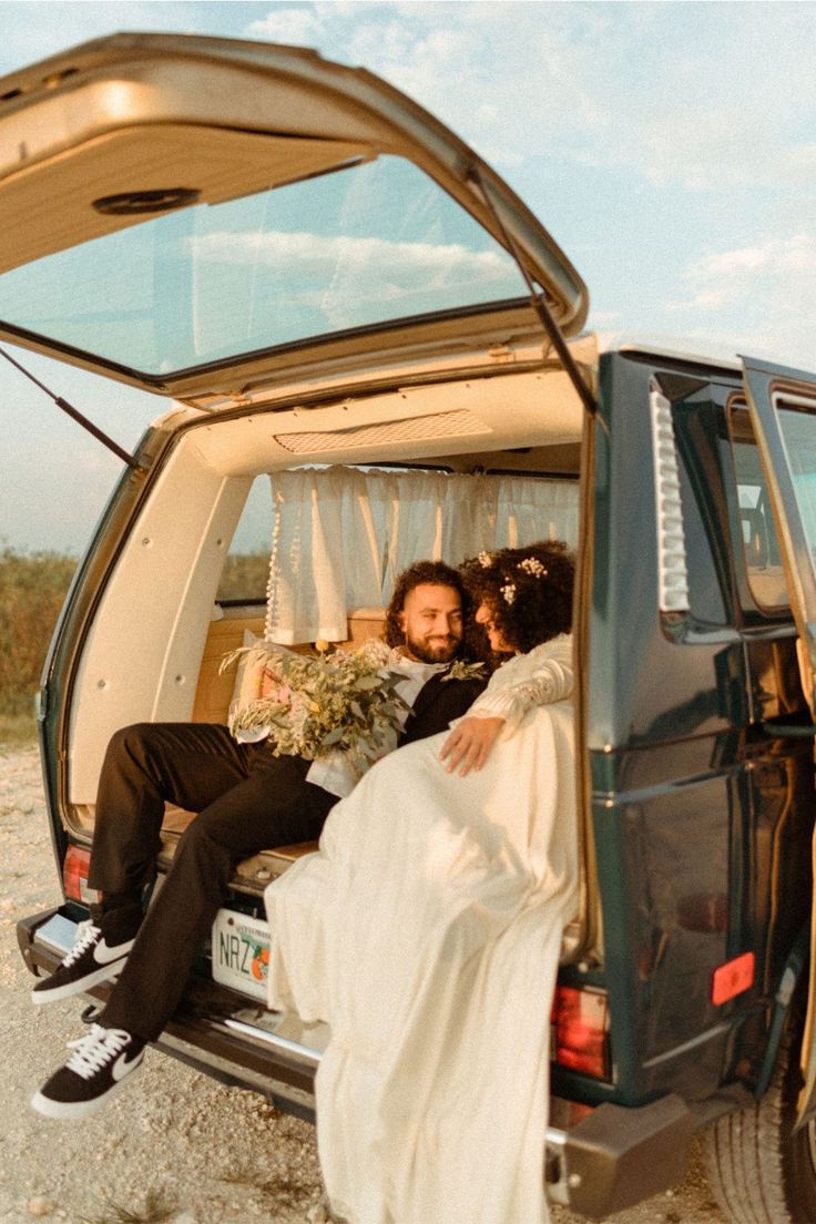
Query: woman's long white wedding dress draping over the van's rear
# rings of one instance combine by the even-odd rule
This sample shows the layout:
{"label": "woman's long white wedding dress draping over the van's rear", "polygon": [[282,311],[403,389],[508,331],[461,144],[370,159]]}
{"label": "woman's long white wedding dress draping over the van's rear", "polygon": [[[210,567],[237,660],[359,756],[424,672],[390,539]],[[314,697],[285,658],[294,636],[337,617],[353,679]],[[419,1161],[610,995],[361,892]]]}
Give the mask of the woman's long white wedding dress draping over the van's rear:
{"label": "woman's long white wedding dress draping over the van's rear", "polygon": [[471,709],[506,718],[483,770],[448,774],[445,733],[393,753],[267,889],[270,1006],[330,1026],[318,1149],[351,1224],[548,1219],[549,1012],[577,895],[571,679],[566,635],[513,657]]}

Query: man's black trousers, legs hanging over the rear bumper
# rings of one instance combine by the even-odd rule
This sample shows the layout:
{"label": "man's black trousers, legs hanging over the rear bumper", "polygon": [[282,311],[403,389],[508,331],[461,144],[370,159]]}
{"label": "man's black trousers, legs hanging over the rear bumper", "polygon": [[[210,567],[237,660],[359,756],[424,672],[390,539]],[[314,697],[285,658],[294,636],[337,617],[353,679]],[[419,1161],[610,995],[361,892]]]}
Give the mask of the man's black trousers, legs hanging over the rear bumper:
{"label": "man's black trousers, legs hanging over the rear bumper", "polygon": [[154,1040],[179,1005],[235,864],[319,836],[338,800],[306,781],[310,764],[273,756],[263,744],[237,744],[226,727],[209,723],[138,723],[111,738],[88,874],[88,885],[103,892],[95,917],[110,941],[132,938],[141,920],[138,900],[155,873],[165,803],[198,815],[141,923],[103,1024]]}

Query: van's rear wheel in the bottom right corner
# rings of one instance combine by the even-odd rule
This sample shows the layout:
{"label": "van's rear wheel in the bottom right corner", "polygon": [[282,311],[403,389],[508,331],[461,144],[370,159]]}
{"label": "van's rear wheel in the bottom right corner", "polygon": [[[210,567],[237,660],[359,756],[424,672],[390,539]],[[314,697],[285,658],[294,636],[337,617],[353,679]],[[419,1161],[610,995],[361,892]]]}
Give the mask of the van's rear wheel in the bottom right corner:
{"label": "van's rear wheel in the bottom right corner", "polygon": [[733,1224],[816,1220],[816,1122],[793,1133],[801,1083],[796,1049],[785,1037],[762,1100],[705,1131],[708,1181]]}

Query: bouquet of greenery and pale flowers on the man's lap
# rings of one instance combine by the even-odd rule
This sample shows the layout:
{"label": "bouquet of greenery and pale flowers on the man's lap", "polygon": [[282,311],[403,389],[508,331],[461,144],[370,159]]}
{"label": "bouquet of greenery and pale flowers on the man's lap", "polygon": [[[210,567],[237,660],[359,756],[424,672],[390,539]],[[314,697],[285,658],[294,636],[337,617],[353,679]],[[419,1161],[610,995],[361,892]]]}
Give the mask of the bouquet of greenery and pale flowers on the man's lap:
{"label": "bouquet of greenery and pale flowers on the man's lap", "polygon": [[355,650],[299,655],[268,643],[243,646],[221,660],[220,671],[243,655],[263,663],[263,695],[230,711],[236,739],[269,739],[275,756],[314,760],[341,749],[361,771],[382,755],[401,728],[407,706],[388,671],[379,639]]}

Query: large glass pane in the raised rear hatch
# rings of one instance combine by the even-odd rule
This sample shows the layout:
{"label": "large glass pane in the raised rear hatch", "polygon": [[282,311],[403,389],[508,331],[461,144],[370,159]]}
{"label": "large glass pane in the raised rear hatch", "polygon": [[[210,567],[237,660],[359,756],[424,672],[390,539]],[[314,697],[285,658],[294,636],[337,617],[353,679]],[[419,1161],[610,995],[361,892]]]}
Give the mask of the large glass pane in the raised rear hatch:
{"label": "large glass pane in the raised rear hatch", "polygon": [[0,318],[144,375],[526,295],[506,251],[410,162],[198,204],[0,277]]}

